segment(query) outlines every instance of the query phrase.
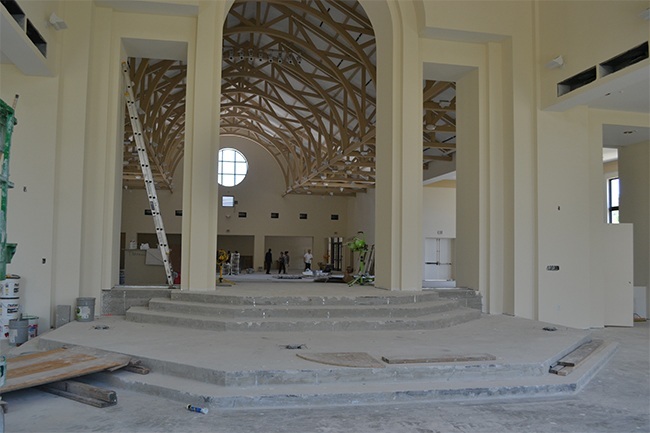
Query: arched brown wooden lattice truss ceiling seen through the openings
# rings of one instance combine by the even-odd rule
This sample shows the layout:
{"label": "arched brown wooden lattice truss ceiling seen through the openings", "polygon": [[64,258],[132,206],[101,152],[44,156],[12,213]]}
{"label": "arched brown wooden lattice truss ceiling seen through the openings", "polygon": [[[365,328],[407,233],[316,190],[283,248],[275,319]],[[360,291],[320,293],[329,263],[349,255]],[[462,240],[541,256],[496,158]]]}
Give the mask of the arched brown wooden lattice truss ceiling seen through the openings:
{"label": "arched brown wooden lattice truss ceiling seen through the openings", "polygon": [[[376,45],[356,1],[238,1],[223,36],[221,135],[263,146],[286,193],[353,195],[375,183]],[[152,171],[183,158],[186,65],[131,59]],[[455,152],[455,86],[423,83],[423,163]],[[125,187],[143,187],[126,123]]]}

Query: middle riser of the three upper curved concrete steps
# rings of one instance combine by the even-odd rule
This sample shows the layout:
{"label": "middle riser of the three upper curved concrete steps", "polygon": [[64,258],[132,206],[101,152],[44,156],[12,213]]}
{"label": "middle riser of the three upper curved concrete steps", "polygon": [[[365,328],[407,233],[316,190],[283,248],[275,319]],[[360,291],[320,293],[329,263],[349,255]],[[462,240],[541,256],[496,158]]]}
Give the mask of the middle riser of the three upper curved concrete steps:
{"label": "middle riser of the three upper curved concrete steps", "polygon": [[407,308],[400,306],[374,308],[336,308],[335,306],[325,306],[320,308],[264,308],[264,307],[242,307],[240,309],[224,308],[212,304],[195,304],[175,301],[159,301],[152,299],[149,302],[151,311],[168,311],[174,313],[191,314],[197,316],[209,316],[213,318],[252,318],[252,319],[271,319],[271,318],[335,318],[335,317],[354,317],[354,318],[407,318],[418,317],[427,314],[450,311],[456,308],[458,304],[454,301],[438,302],[435,304],[422,304],[420,308]]}

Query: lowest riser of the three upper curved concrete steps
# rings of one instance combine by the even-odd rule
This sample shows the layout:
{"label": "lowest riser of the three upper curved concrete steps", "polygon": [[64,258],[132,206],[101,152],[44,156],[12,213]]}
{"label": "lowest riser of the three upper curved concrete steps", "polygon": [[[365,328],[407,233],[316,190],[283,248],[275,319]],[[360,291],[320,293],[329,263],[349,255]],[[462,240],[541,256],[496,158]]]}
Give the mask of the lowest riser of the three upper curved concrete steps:
{"label": "lowest riser of the three upper curved concrete steps", "polygon": [[477,310],[466,310],[463,314],[445,317],[433,320],[393,320],[393,321],[285,321],[285,322],[221,322],[218,320],[203,320],[200,317],[167,317],[155,314],[149,314],[146,311],[133,312],[127,311],[127,320],[140,323],[157,323],[169,326],[182,326],[193,329],[210,329],[215,331],[258,331],[258,332],[276,332],[276,331],[362,331],[362,330],[417,330],[417,329],[437,329],[464,323],[470,320],[478,319],[480,312]]}

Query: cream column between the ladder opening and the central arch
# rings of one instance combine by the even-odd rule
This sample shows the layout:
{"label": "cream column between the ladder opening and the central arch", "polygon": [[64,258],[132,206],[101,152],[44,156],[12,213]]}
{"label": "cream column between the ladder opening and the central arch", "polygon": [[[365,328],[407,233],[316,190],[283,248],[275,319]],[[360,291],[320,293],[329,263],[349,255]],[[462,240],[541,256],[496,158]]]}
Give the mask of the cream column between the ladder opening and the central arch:
{"label": "cream column between the ladder opening and the central arch", "polygon": [[[216,284],[217,153],[221,94],[223,3],[201,2],[194,64],[188,65],[188,103],[183,190],[183,289]],[[190,97],[189,92],[192,92]]]}

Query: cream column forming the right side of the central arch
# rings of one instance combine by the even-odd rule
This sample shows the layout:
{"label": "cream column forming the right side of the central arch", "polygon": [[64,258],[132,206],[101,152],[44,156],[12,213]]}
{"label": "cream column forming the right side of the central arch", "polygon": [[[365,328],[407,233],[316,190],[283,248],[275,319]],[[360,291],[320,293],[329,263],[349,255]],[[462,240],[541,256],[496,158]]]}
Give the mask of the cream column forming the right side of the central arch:
{"label": "cream column forming the right side of the central arch", "polygon": [[[411,4],[363,3],[377,38],[376,281],[422,288],[422,64]],[[391,31],[392,29],[392,31]]]}

